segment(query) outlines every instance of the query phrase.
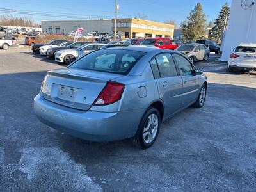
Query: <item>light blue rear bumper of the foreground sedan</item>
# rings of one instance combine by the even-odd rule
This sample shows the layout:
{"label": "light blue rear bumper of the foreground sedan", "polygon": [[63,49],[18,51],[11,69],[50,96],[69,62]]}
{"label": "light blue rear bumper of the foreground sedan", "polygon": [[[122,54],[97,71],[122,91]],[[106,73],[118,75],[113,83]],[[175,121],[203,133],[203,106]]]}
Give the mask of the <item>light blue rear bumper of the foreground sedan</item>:
{"label": "light blue rear bumper of the foreground sedan", "polygon": [[114,141],[131,138],[137,131],[144,110],[106,113],[81,111],[45,100],[34,99],[35,115],[54,129],[89,141]]}

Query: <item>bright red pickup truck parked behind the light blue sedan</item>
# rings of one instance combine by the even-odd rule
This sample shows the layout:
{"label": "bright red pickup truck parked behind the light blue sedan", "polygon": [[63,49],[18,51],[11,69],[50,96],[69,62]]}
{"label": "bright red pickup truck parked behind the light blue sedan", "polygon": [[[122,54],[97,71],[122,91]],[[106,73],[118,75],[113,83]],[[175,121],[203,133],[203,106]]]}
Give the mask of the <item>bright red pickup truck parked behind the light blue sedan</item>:
{"label": "bright red pickup truck parked behind the light blue sedan", "polygon": [[176,49],[179,47],[177,44],[172,44],[170,38],[146,38],[141,42],[141,45],[154,45],[161,49]]}

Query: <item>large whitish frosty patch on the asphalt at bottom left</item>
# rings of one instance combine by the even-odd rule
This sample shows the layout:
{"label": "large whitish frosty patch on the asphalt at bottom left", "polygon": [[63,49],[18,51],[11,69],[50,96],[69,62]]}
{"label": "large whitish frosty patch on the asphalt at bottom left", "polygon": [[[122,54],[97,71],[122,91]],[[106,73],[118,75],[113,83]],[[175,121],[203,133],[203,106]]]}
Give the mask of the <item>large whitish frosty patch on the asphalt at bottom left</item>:
{"label": "large whitish frosty patch on the asphalt at bottom left", "polygon": [[[71,191],[102,191],[100,186],[94,184],[86,175],[83,165],[72,161],[67,153],[56,147],[33,147],[21,152],[19,170],[28,174],[27,179],[31,182],[51,178],[59,180],[60,186],[67,186]],[[51,184],[49,186],[51,187]]]}

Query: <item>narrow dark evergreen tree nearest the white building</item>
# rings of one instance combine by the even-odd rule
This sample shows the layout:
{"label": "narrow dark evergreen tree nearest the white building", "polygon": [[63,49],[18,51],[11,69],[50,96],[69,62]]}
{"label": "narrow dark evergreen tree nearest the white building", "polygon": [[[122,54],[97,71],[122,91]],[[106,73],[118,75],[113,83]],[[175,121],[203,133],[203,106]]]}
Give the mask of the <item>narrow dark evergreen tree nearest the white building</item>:
{"label": "narrow dark evergreen tree nearest the white building", "polygon": [[212,31],[211,31],[211,38],[214,39],[218,44],[221,42],[221,36],[224,29],[226,15],[227,15],[227,20],[226,20],[225,29],[227,29],[228,19],[230,15],[230,7],[228,6],[228,3],[225,3],[225,5],[221,8],[218,18],[214,20],[214,27],[212,28]]}

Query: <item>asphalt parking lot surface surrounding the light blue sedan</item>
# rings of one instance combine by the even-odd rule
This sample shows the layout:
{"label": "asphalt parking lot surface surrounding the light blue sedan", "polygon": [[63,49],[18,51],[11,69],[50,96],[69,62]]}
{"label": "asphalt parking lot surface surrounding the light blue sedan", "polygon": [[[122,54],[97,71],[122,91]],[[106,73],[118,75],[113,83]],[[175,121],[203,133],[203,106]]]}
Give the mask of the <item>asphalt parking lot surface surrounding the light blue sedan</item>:
{"label": "asphalt parking lot surface surrounding the light blue sedan", "polygon": [[227,74],[217,58],[195,63],[209,78],[205,106],[164,122],[140,150],[40,123],[33,97],[47,70],[65,66],[0,50],[0,191],[256,191],[256,73]]}

